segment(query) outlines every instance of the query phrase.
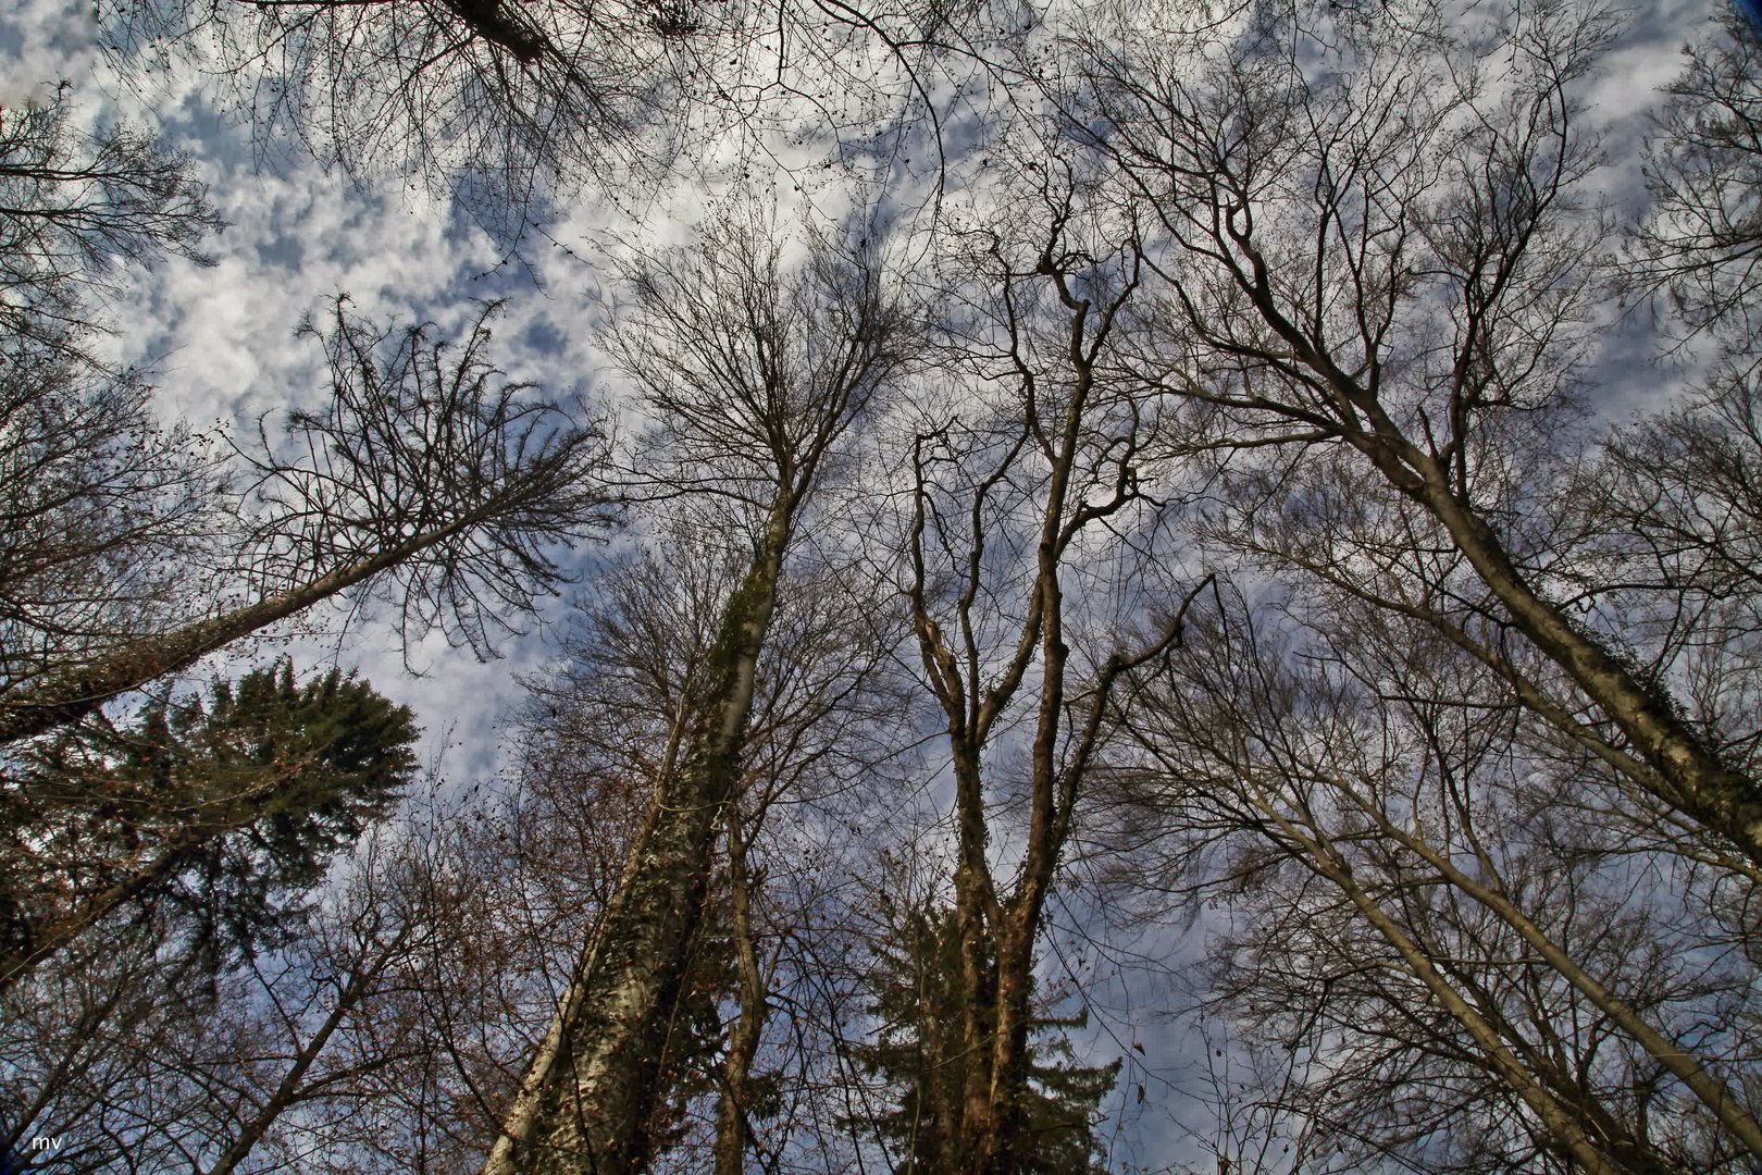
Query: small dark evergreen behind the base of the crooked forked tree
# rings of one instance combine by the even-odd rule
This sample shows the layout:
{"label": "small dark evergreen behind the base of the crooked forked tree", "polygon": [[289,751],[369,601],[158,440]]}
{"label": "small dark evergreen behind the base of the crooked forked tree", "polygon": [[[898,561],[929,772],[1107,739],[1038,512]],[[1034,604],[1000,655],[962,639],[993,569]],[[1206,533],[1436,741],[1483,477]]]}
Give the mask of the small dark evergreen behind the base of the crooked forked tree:
{"label": "small dark evergreen behind the base of the crooked forked tree", "polygon": [[[876,953],[874,1002],[881,1022],[874,1043],[853,1052],[869,1076],[899,1090],[899,1105],[869,1119],[897,1154],[897,1175],[943,1175],[960,1170],[962,1087],[974,1062],[960,1039],[966,978],[953,911],[890,909],[893,939]],[[987,965],[994,965],[987,960]],[[1041,1001],[1047,1002],[1045,999]],[[1022,1108],[1024,1175],[1091,1175],[1098,1145],[1094,1120],[1114,1089],[1119,1060],[1078,1064],[1068,1029],[1082,1029],[1087,1013],[1034,1020],[1029,1045],[1029,1096]]]}

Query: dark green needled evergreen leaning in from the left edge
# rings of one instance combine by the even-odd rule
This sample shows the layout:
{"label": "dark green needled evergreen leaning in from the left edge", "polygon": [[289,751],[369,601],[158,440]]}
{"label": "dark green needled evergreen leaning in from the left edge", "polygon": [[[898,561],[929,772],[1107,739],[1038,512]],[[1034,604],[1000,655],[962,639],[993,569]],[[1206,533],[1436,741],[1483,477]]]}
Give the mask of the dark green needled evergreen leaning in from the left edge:
{"label": "dark green needled evergreen leaning in from the left edge", "polygon": [[416,772],[414,715],[282,661],[0,763],[0,983],[99,920],[173,918],[206,965],[273,944]]}

